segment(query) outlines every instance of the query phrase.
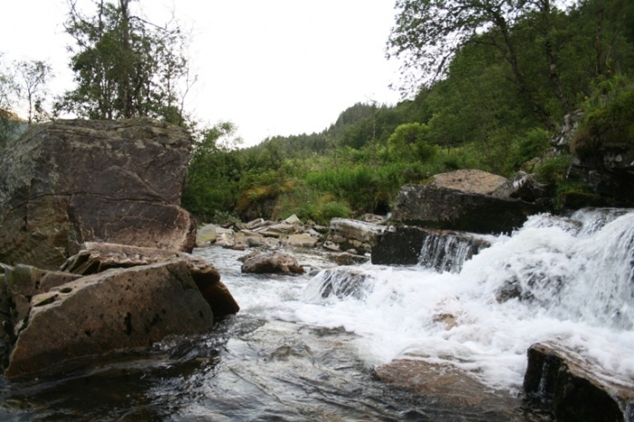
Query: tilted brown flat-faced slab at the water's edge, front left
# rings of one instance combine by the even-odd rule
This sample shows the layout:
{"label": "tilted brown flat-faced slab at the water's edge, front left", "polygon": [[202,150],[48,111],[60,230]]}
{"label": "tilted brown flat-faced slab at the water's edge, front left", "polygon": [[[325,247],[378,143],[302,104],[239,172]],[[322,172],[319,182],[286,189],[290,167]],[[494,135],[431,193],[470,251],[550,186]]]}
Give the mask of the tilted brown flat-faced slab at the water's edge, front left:
{"label": "tilted brown flat-faced slab at the water's edge, front left", "polygon": [[214,314],[187,260],[115,268],[36,294],[8,378],[58,374],[116,350],[212,329]]}

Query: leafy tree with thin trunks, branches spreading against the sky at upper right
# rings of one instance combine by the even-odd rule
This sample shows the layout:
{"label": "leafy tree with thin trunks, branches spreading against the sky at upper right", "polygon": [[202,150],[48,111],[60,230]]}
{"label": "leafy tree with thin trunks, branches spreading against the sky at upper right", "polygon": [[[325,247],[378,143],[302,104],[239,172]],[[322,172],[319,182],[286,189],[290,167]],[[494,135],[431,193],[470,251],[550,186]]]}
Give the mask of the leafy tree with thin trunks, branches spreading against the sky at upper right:
{"label": "leafy tree with thin trunks, branches spreading against the sky at upper right", "polygon": [[[554,122],[524,76],[514,38],[514,25],[527,16],[539,26],[544,70],[550,72],[553,90],[565,111],[569,103],[559,83],[556,49],[552,44],[551,0],[398,0],[395,27],[389,35],[388,56],[404,60],[407,70],[420,71],[431,84],[444,76],[456,51],[466,43],[483,43],[502,53],[514,83],[545,124]],[[537,17],[535,17],[537,16]]]}

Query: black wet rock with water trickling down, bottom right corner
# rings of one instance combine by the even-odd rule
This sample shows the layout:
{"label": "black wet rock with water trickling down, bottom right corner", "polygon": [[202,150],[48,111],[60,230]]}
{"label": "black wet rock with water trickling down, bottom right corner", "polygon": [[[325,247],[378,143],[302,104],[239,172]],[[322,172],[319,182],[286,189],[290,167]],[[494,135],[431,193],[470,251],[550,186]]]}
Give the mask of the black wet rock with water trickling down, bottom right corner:
{"label": "black wet rock with water trickling down, bottom right corner", "polygon": [[528,350],[524,391],[558,422],[630,421],[634,382],[602,373],[573,350],[536,343]]}

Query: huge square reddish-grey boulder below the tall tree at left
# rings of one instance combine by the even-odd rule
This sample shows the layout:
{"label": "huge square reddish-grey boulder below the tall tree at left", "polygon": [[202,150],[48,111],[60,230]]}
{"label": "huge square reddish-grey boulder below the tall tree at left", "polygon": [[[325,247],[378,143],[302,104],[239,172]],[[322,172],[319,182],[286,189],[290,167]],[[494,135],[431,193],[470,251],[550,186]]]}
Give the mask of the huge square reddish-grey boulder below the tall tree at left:
{"label": "huge square reddish-grey boulder below the tall tree at left", "polygon": [[0,157],[0,261],[56,268],[87,241],[189,251],[191,139],[150,119],[58,120]]}

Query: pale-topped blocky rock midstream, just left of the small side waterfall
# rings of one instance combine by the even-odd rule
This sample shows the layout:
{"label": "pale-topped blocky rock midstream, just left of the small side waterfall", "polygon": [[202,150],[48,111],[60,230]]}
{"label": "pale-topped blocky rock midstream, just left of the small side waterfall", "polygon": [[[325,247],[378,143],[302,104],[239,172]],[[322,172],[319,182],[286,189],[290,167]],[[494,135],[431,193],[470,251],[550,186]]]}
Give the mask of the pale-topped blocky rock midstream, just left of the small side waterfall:
{"label": "pale-topped blocky rock midstream, just left of the small side waterfall", "polygon": [[384,225],[375,225],[347,218],[332,218],[330,233],[324,247],[332,251],[357,249],[361,254],[369,253],[376,245],[377,237],[385,231]]}

